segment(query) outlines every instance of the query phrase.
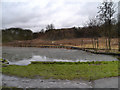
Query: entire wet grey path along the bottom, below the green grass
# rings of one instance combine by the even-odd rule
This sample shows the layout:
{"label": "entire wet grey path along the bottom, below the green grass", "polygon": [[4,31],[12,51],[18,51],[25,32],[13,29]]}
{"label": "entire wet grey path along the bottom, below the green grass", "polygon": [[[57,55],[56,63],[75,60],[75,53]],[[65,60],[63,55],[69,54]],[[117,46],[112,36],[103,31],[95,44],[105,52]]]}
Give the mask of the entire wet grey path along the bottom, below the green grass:
{"label": "entire wet grey path along the bottom, below the green grass", "polygon": [[18,88],[118,88],[118,77],[88,82],[82,80],[29,79],[2,75],[2,85]]}

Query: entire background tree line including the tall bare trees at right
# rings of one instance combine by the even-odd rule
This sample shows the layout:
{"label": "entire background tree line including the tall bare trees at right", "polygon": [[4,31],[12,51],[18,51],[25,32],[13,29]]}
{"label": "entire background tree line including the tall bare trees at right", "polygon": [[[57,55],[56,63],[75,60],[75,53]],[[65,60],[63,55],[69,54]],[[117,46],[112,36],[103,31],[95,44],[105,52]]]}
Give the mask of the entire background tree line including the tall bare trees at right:
{"label": "entire background tree line including the tall bare trees at right", "polygon": [[[24,30],[21,28],[10,28],[2,30],[3,42],[10,42],[14,40],[61,40],[72,38],[91,38],[93,48],[99,47],[98,38],[105,37],[106,48],[111,49],[111,39],[120,37],[120,15],[118,20],[114,18],[116,12],[114,3],[112,1],[104,1],[98,6],[98,15],[95,18],[89,19],[84,27],[72,27],[55,29],[53,24],[47,25],[46,29],[40,32],[33,33],[31,30]],[[119,39],[120,47],[120,39]]]}

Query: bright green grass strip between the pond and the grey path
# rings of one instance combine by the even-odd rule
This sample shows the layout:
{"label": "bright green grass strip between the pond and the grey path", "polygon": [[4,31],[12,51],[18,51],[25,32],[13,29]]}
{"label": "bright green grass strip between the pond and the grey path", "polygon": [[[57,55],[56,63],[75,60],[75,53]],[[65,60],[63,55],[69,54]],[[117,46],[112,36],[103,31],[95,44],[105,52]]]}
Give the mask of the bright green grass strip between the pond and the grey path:
{"label": "bright green grass strip between the pond and the grey path", "polygon": [[118,76],[119,61],[99,62],[32,62],[27,66],[9,65],[2,68],[7,75],[35,78],[95,80]]}

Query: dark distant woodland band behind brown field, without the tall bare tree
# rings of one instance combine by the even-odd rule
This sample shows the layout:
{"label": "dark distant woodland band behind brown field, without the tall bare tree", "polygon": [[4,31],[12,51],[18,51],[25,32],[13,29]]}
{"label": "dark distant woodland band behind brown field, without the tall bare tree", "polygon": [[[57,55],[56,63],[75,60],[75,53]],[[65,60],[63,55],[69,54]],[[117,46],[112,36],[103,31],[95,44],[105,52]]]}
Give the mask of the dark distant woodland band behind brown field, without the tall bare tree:
{"label": "dark distant woodland band behind brown field, without the tall bare tree", "polygon": [[[47,26],[46,26],[47,27]],[[118,38],[117,27],[118,23],[112,24],[111,38]],[[48,28],[48,27],[47,27]],[[43,29],[40,32],[32,32],[22,28],[9,28],[2,30],[3,42],[11,42],[14,40],[31,40],[31,39],[43,39],[43,40],[61,40],[61,39],[73,39],[73,38],[99,38],[106,37],[106,30],[103,25],[100,26],[85,26],[85,27],[72,27],[62,29]]]}

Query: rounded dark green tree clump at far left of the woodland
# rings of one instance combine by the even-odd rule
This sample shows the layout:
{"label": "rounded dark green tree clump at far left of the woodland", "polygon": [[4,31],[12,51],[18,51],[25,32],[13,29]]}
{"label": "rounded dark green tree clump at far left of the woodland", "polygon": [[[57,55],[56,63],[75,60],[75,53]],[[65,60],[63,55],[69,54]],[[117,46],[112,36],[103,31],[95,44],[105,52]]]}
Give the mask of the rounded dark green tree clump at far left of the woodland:
{"label": "rounded dark green tree clump at far left of the woodland", "polygon": [[31,40],[33,32],[22,28],[9,28],[2,30],[2,42],[12,42],[15,40]]}

